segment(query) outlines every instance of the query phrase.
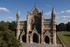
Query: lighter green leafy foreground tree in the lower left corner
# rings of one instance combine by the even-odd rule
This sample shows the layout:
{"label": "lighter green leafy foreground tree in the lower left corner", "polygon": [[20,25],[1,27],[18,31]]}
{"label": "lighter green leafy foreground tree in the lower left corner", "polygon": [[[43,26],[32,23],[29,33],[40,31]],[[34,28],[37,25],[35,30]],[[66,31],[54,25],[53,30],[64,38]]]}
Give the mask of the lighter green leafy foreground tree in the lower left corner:
{"label": "lighter green leafy foreground tree in the lower left corner", "polygon": [[21,47],[14,32],[10,30],[0,31],[0,47]]}

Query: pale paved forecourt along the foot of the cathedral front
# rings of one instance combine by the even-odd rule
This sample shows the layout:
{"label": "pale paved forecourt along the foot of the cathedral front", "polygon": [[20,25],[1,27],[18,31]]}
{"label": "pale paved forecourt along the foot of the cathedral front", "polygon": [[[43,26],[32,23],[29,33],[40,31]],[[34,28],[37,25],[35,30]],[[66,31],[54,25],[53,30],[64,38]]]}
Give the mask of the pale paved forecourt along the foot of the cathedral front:
{"label": "pale paved forecourt along the foot of the cathedral front", "polygon": [[57,47],[53,44],[23,43],[22,47]]}

